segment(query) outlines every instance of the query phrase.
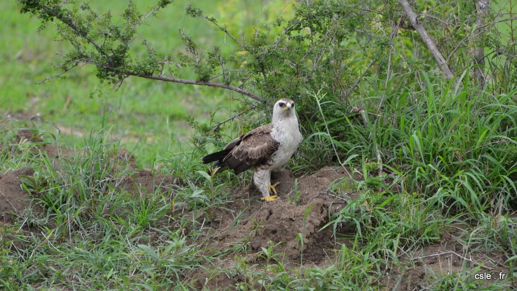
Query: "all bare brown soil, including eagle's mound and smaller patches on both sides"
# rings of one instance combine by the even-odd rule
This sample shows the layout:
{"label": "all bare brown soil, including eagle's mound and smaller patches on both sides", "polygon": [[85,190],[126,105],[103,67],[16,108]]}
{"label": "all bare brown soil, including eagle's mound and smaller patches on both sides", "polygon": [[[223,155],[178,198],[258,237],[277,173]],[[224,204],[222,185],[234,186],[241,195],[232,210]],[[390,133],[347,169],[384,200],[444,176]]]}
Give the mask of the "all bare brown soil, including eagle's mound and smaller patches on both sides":
{"label": "all bare brown soil, including eagle's mound and smaller patches on both sides", "polygon": [[[18,139],[22,138],[35,144],[41,142],[40,137],[31,131],[21,131]],[[71,155],[70,151],[56,146],[38,147],[55,159]],[[134,159],[127,151],[121,150],[113,158],[124,159],[134,165]],[[239,256],[245,257],[245,264],[251,269],[276,264],[277,260],[284,264],[286,270],[301,264],[332,264],[336,259],[334,253],[341,244],[348,246],[351,242],[334,238],[331,227],[322,228],[328,223],[331,213],[339,211],[356,197],[353,192],[343,193],[343,189],[339,189],[340,195],[332,190],[334,181],[351,179],[348,173],[351,172],[343,167],[325,167],[317,173],[298,178],[287,170],[273,173],[272,182],[280,182],[277,186],[280,198],[267,203],[258,199],[260,195],[252,187],[236,189],[229,197],[231,202],[224,208],[207,211],[203,218],[212,229],[209,235],[214,237],[209,248],[215,251],[233,248]],[[33,170],[28,167],[0,175],[0,226],[23,218],[27,211],[35,216],[42,213],[43,209],[34,203],[34,197],[21,188],[20,177],[31,175]],[[354,175],[354,179],[361,179],[359,174]],[[153,192],[159,187],[170,189],[177,185],[177,179],[173,176],[139,170],[119,187],[139,194],[136,192]],[[341,229],[341,232],[354,235],[356,229]],[[263,250],[267,248],[273,248],[274,253],[282,254],[282,257],[266,258]],[[480,271],[490,268],[488,271],[491,273],[510,273],[503,267],[507,259],[503,254],[469,254],[467,258],[462,248],[453,236],[445,234],[440,243],[425,246],[418,254],[401,255],[401,267],[386,270],[382,284],[389,290],[427,288],[431,285],[427,280],[429,276],[459,272],[465,264],[472,270],[482,264]],[[193,277],[197,279],[197,287],[224,289],[237,283],[240,277],[235,272],[220,272],[232,270],[242,263],[236,262],[235,252],[221,258],[217,266],[206,266],[206,270],[197,271]],[[217,269],[218,272],[212,275],[210,269]]]}

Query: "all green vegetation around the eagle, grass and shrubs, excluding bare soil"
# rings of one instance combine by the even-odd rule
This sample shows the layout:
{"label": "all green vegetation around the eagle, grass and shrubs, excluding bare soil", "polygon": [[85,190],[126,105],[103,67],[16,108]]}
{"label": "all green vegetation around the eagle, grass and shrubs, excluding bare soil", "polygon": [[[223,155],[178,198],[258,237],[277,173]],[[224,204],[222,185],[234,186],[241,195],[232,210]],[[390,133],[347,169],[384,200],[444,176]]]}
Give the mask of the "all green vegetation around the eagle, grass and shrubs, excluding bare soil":
{"label": "all green vegetation around the eagle, grass and shrubs, excluding bare soil", "polygon": [[[215,182],[196,172],[206,170],[200,157],[267,122],[270,104],[289,97],[305,137],[292,171],[340,165],[363,174],[352,183],[360,198],[327,225],[336,236],[342,224],[360,231],[328,269],[283,272],[281,263],[267,264],[257,273],[241,270],[237,288],[253,289],[247,283],[262,280],[263,289],[377,289],[373,278],[382,276],[384,258],[397,261],[401,246],[418,251],[439,241],[450,225],[461,226],[469,249],[505,254],[512,279],[490,288],[515,286],[517,7],[417,1],[410,5],[417,13],[412,23],[404,4],[0,4],[6,21],[0,29],[10,36],[0,44],[3,142],[12,144],[16,130],[30,128],[47,142],[88,149],[61,176],[48,157],[33,157],[23,143],[19,151],[2,148],[2,172],[29,165],[41,174],[24,185],[44,193],[39,204],[47,211],[32,222],[42,236],[19,232],[21,217],[2,228],[27,246],[3,249],[0,284],[193,288],[191,273],[225,251],[206,255],[208,238],[197,217],[168,210],[175,203],[200,212],[224,208],[226,186],[247,180],[226,174]],[[139,167],[174,174],[181,185],[174,200],[168,192],[133,197],[95,183],[129,171],[108,161],[120,146]],[[77,180],[91,169],[95,179]],[[91,201],[94,192],[110,194]],[[113,205],[123,205],[122,214]],[[263,252],[267,262],[275,256]],[[350,270],[351,277],[343,276]],[[430,288],[480,286],[464,272]]]}

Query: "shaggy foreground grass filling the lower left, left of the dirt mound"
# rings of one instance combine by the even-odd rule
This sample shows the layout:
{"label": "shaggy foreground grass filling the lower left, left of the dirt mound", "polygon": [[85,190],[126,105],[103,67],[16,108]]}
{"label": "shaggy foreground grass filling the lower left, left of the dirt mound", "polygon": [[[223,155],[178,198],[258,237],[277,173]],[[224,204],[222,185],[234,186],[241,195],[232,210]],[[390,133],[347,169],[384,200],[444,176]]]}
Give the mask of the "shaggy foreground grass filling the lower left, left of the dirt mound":
{"label": "shaggy foreground grass filling the lower left, left of the dirt mound", "polygon": [[26,158],[34,174],[20,177],[22,188],[43,212],[23,222],[31,231],[12,232],[23,244],[0,250],[0,285],[192,289],[191,275],[208,256],[201,247],[203,226],[194,228],[194,218],[175,213],[171,197],[184,202],[168,191],[181,186],[136,185],[139,170],[109,130],[86,136],[83,144],[55,147],[58,152],[49,144]]}

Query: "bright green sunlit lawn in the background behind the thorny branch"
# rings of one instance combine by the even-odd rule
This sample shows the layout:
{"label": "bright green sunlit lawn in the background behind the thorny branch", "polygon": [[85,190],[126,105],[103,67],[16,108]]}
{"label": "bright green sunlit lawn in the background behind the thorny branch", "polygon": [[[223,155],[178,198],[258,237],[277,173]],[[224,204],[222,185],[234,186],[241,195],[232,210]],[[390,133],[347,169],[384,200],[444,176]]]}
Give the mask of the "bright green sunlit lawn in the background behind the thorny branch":
{"label": "bright green sunlit lawn in the background behind the thorny branch", "polygon": [[[150,3],[134,1],[141,9]],[[179,28],[207,45],[223,45],[220,33],[206,22],[185,15],[188,1],[176,1],[157,18],[149,18],[148,25],[134,43],[138,54],[140,42],[163,52],[181,48]],[[101,8],[102,1],[91,1],[93,8]],[[217,2],[198,3],[217,13]],[[236,8],[244,6],[237,5]],[[249,6],[248,6],[249,7]],[[14,1],[0,4],[4,25],[0,33],[0,114],[29,118],[39,114],[49,132],[60,130],[71,134],[77,143],[81,136],[107,126],[123,141],[123,147],[133,152],[139,165],[152,168],[156,161],[177,155],[189,147],[186,141],[192,129],[184,116],[195,116],[199,122],[208,122],[210,112],[227,106],[231,96],[221,89],[186,86],[138,78],[126,79],[122,86],[112,90],[109,84],[100,84],[93,66],[84,66],[69,72],[64,80],[50,80],[36,85],[59,72],[55,64],[62,62],[59,53],[67,52],[67,44],[54,41],[54,27],[48,24],[38,33],[37,19],[17,12]],[[125,2],[110,5],[113,14],[125,8]],[[251,8],[251,7],[250,7]],[[174,20],[174,21],[173,21]],[[223,45],[224,49],[224,45]],[[184,71],[184,77],[192,72]],[[228,114],[224,110],[220,114]]]}

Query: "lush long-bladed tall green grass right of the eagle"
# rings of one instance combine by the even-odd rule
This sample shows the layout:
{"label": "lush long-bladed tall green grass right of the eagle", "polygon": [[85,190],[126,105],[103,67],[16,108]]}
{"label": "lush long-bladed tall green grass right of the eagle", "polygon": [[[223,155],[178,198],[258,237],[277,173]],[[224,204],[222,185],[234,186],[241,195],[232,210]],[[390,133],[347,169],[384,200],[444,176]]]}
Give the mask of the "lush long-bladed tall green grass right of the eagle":
{"label": "lush long-bladed tall green grass right of the eagle", "polygon": [[419,76],[384,95],[372,93],[365,107],[379,114],[340,111],[349,128],[340,145],[370,160],[382,157],[398,191],[420,193],[446,211],[514,206],[515,91],[495,96],[461,85],[466,78],[451,88],[428,73]]}

